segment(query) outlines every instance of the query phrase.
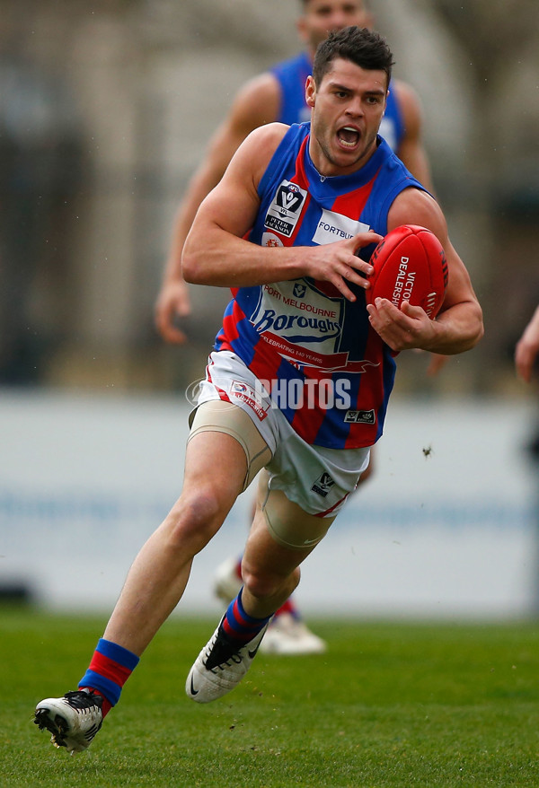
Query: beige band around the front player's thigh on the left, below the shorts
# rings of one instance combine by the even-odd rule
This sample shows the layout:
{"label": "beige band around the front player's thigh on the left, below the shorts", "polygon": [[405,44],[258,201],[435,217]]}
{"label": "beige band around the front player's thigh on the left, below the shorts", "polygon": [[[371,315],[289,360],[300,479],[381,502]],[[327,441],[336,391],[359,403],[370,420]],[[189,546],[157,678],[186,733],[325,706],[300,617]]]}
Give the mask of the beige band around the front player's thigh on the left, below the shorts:
{"label": "beige band around the front player's thigh on the left, below the shorts", "polygon": [[245,452],[247,473],[243,482],[245,490],[259,470],[271,460],[271,451],[241,407],[223,399],[210,399],[203,402],[190,414],[190,434],[188,442],[198,433],[215,432],[230,435]]}

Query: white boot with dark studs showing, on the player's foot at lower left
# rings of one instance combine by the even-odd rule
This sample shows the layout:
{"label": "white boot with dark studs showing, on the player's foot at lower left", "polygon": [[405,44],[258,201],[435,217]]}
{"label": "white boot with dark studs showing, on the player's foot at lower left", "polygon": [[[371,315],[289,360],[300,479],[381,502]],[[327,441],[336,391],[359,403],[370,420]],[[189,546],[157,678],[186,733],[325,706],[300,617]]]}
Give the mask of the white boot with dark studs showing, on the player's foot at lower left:
{"label": "white boot with dark studs showing, on the player's foot at lower left", "polygon": [[47,697],[36,706],[34,722],[40,731],[46,728],[52,734],[55,747],[65,747],[74,755],[88,749],[101,728],[102,702],[101,695],[84,689]]}

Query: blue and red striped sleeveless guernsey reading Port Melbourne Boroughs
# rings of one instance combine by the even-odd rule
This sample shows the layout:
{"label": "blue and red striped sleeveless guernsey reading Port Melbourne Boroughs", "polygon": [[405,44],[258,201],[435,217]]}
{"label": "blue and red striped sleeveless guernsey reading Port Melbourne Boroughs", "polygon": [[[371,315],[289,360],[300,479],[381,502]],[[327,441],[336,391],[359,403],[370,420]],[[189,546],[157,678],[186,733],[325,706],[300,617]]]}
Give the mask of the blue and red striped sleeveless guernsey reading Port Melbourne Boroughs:
{"label": "blue and red striped sleeveless guernsey reading Port Melbourne Boroughs", "polygon": [[[381,137],[361,170],[324,178],[309,155],[309,132],[309,123],[296,124],[278,145],[259,185],[261,207],[248,240],[315,246],[369,228],[385,235],[394,198],[423,187]],[[367,260],[374,246],[361,257]],[[216,350],[233,352],[260,381],[270,381],[271,397],[296,433],[331,449],[375,443],[393,388],[392,352],[370,327],[365,291],[349,287],[356,302],[306,276],[234,288],[216,337]],[[284,400],[286,390],[302,396]]]}

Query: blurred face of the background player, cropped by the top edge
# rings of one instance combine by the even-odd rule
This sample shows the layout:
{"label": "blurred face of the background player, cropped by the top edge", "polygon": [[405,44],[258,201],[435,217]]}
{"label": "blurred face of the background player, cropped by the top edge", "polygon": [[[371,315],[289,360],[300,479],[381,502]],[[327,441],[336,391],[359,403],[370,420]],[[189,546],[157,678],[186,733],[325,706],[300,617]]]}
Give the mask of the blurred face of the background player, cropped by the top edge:
{"label": "blurred face of the background player, cropped by the top edge", "polygon": [[363,0],[309,0],[297,22],[297,29],[314,55],[330,31],[342,30],[349,25],[370,27],[371,24],[372,17]]}

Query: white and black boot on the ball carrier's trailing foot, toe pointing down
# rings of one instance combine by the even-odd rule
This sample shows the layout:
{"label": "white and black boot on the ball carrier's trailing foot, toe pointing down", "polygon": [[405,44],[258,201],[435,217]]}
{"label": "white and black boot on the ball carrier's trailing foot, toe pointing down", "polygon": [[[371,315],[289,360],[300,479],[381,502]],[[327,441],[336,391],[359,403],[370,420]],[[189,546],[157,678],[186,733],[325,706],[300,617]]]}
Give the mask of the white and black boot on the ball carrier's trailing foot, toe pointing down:
{"label": "white and black boot on the ball carrier's trailing foot, toe pointing down", "polygon": [[251,667],[268,625],[249,643],[232,643],[225,635],[223,617],[189,671],[187,695],[197,703],[210,703],[236,687]]}

